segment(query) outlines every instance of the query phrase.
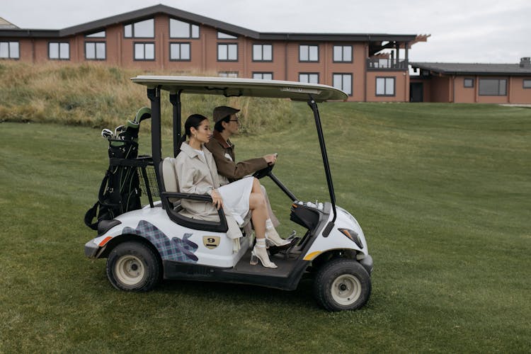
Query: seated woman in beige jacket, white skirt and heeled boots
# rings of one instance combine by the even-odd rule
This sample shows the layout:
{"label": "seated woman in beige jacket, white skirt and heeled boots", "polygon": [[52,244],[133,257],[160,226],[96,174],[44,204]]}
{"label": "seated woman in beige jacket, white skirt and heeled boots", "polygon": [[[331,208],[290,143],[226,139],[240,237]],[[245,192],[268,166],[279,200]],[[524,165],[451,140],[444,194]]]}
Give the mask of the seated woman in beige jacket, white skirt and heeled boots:
{"label": "seated woman in beige jacket, white skirt and heeled boots", "polygon": [[[260,182],[256,178],[247,177],[220,187],[214,158],[208,149],[203,147],[203,144],[212,137],[208,119],[203,115],[190,115],[184,128],[183,139],[188,137],[188,143],[181,144],[181,153],[176,157],[179,189],[181,193],[208,194],[212,197],[212,205],[183,199],[181,205],[185,212],[198,219],[211,219],[217,215],[216,208],[219,210],[223,207],[227,222],[231,224],[231,218],[234,217],[241,226],[244,217],[251,210],[251,219],[256,233],[256,245],[252,251],[251,264],[257,264],[259,259],[264,267],[277,268],[277,265],[269,260],[265,239],[267,237],[273,244],[283,244],[285,240],[278,236],[274,228],[273,230],[268,228],[266,235],[265,224],[268,220],[268,211]],[[229,227],[229,233],[234,232],[230,229]]]}

